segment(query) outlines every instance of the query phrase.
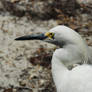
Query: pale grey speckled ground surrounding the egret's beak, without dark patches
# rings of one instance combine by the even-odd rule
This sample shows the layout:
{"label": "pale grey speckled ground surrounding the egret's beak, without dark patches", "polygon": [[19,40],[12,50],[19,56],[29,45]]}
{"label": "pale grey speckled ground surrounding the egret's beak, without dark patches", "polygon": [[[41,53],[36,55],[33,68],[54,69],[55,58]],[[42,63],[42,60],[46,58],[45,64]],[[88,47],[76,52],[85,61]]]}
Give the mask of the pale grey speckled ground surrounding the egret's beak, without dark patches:
{"label": "pale grey speckled ground surrounding the egret's beak, without dark patches", "polygon": [[[41,41],[17,42],[14,39],[31,33],[46,32],[56,25],[54,20],[42,21],[41,23],[41,21],[28,21],[25,17],[18,19],[17,17],[0,15],[0,88],[13,87],[22,90],[19,92],[23,92],[23,90],[27,92],[26,89],[29,91],[31,88],[32,90],[40,90],[41,87],[45,88],[45,84],[48,86],[46,80],[51,80],[50,69],[45,70],[38,65],[33,66],[29,59],[40,47],[47,48],[49,51],[55,46]],[[45,73],[48,73],[48,76]],[[39,82],[41,86],[37,89]]]}

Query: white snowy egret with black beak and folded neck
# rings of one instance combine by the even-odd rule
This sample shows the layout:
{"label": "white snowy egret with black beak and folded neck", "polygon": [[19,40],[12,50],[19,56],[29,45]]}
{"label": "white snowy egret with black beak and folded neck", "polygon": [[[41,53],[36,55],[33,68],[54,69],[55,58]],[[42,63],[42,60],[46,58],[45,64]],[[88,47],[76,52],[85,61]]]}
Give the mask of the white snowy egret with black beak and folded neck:
{"label": "white snowy egret with black beak and folded neck", "polygon": [[92,92],[92,66],[82,64],[68,70],[68,66],[79,62],[91,61],[90,48],[82,37],[66,26],[56,26],[41,35],[30,35],[16,38],[16,40],[40,39],[47,37],[47,41],[58,44],[61,48],[55,50],[52,57],[52,75],[57,92]]}

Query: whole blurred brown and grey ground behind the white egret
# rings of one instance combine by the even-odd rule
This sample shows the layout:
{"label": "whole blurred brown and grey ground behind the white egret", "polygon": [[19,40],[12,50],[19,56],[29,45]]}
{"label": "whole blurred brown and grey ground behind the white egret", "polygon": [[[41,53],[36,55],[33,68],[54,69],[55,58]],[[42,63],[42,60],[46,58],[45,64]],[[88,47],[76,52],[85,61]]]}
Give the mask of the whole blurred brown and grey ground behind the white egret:
{"label": "whole blurred brown and grey ground behind the white egret", "polygon": [[57,25],[92,46],[92,0],[0,0],[0,92],[56,92],[50,63],[57,47],[14,39]]}

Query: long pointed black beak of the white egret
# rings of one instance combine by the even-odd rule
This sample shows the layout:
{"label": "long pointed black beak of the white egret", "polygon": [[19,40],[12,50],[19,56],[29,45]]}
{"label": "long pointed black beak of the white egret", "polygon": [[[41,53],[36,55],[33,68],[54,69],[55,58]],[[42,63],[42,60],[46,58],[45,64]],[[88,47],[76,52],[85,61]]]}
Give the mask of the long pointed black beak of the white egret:
{"label": "long pointed black beak of the white egret", "polygon": [[32,34],[16,38],[15,40],[44,40],[47,36],[45,34]]}

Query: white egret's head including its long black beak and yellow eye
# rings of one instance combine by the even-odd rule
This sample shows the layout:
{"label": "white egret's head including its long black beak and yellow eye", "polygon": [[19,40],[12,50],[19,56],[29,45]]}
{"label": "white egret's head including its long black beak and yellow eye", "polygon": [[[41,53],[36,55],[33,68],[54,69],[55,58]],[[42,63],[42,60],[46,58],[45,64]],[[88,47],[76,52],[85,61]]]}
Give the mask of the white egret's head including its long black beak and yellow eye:
{"label": "white egret's head including its long black beak and yellow eye", "polygon": [[[47,38],[49,38],[49,40]],[[59,45],[60,47],[68,44],[85,44],[82,37],[77,32],[64,25],[56,26],[46,33],[22,36],[15,40],[44,40],[46,42]]]}

